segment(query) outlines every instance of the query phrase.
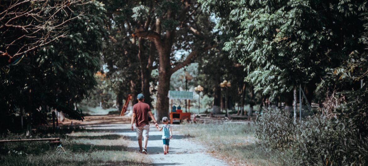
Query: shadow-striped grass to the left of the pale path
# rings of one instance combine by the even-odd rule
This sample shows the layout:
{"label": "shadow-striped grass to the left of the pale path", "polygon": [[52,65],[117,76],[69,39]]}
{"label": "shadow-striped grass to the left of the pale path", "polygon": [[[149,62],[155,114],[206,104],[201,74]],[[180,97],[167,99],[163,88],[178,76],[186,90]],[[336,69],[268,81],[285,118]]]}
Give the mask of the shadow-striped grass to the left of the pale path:
{"label": "shadow-striped grass to the left of the pale path", "polygon": [[[20,134],[7,134],[0,136],[0,139],[24,137]],[[33,136],[38,137],[40,136]],[[47,141],[1,144],[1,166],[152,165],[146,155],[133,152],[134,150],[127,147],[127,137],[118,134],[73,132],[62,137],[60,141],[63,148],[58,147],[60,144],[50,144]]]}

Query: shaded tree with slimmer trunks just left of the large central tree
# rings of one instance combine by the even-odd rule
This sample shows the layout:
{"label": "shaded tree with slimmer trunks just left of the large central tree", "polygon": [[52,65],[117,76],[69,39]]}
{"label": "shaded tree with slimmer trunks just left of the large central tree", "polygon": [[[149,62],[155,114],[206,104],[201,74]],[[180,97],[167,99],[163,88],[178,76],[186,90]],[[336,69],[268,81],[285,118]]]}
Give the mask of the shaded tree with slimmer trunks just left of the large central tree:
{"label": "shaded tree with slimmer trunks just left of the large central tree", "polygon": [[[131,80],[128,81],[131,84],[130,89],[119,89],[117,90],[117,93],[126,93],[127,95],[127,92],[130,91],[134,98],[133,103],[137,102],[135,95],[137,95],[137,93],[143,93],[145,95],[145,102],[152,107],[150,82],[153,81],[151,78],[151,73],[155,68],[153,64],[157,57],[155,45],[145,38],[138,38],[130,35],[134,33],[136,28],[141,27],[141,23],[132,17],[134,15],[134,11],[139,10],[139,8],[136,6],[139,5],[140,2],[106,0],[105,4],[108,10],[107,15],[110,18],[110,21],[108,21],[110,32],[109,42],[111,45],[115,45],[115,47],[123,47],[123,49],[114,48],[113,46],[108,47],[106,48],[106,53],[108,53],[104,56],[106,59],[110,59],[110,61],[115,61],[115,63],[124,63],[124,66],[121,66],[115,65],[115,63],[107,62],[108,68],[110,70],[110,73],[107,74],[113,76],[116,75],[113,74],[113,72],[118,71],[120,73],[118,77],[124,78],[128,78],[128,75],[131,75],[132,73],[138,74],[139,78],[136,78],[136,76],[134,76],[134,78],[129,77],[128,80]],[[120,52],[111,52],[110,49],[115,51],[116,49],[120,49]],[[127,51],[128,54],[124,54],[125,51]],[[126,61],[126,59],[130,60]],[[120,63],[118,61],[125,62]],[[134,67],[134,70],[131,70],[132,68],[130,68],[130,70],[125,70],[124,68],[127,65]],[[117,68],[113,69],[113,67]],[[116,79],[113,79],[112,81],[114,80],[117,81]],[[118,99],[117,101],[121,101],[121,99]]]}

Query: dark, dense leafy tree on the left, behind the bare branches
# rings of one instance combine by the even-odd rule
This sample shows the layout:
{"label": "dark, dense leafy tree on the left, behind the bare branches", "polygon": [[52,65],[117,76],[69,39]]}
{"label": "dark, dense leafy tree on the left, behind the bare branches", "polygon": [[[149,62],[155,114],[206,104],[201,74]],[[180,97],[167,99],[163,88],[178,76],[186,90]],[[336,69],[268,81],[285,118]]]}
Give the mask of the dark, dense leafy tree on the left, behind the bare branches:
{"label": "dark, dense leafy tree on the left, behind the bare branches", "polygon": [[[94,74],[100,69],[106,30],[103,5],[98,1],[80,2],[69,4],[68,10],[53,15],[56,25],[75,18],[64,23],[65,28],[60,32],[64,37],[51,36],[49,41],[52,42],[27,52],[28,58],[12,66],[8,73],[0,72],[0,93],[7,94],[0,97],[1,129],[5,129],[3,125],[12,124],[9,117],[18,110],[24,110],[21,116],[26,113],[28,122],[33,124],[45,123],[51,108],[63,111],[70,118],[83,119],[76,104],[96,85]],[[45,6],[53,4],[47,1]],[[21,7],[32,8],[32,3]],[[12,37],[6,34],[9,37],[4,38]],[[43,32],[34,34],[42,36]],[[25,43],[32,41],[25,40]],[[22,48],[23,43],[20,44]]]}

